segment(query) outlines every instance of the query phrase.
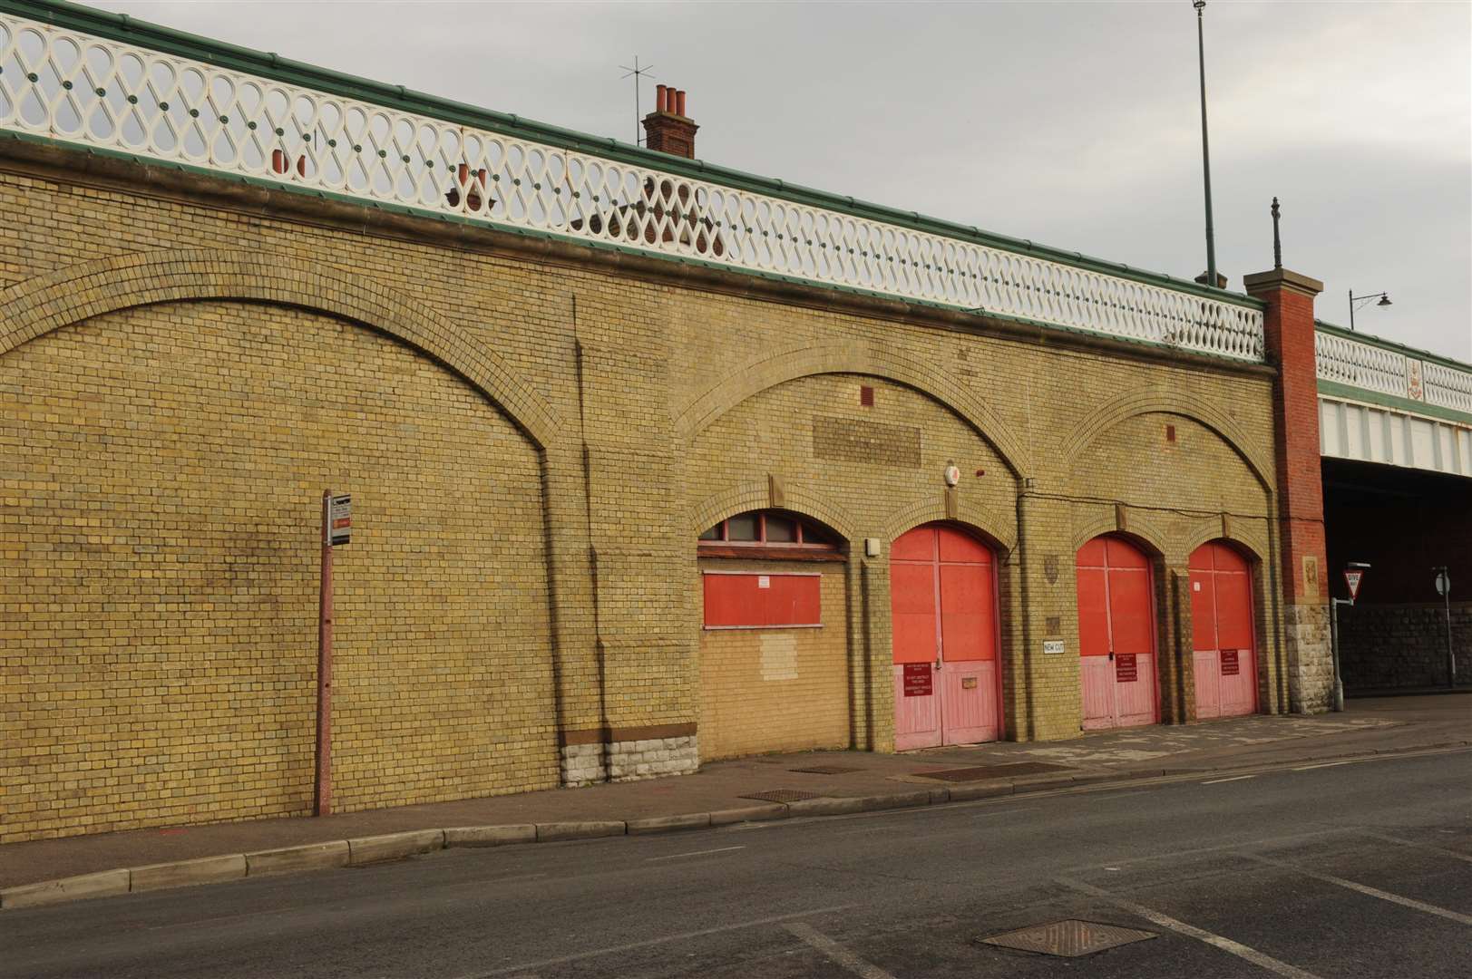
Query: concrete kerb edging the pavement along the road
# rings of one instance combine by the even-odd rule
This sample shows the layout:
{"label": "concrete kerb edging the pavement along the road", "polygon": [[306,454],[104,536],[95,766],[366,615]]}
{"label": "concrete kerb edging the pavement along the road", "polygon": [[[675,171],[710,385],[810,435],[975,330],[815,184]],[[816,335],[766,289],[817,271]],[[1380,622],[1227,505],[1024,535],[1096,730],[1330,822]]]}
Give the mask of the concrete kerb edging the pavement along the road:
{"label": "concrete kerb edging the pavement along the road", "polygon": [[445,848],[502,847],[531,842],[559,842],[577,839],[599,839],[606,836],[668,833],[735,823],[757,823],[789,817],[843,816],[851,813],[873,813],[880,810],[916,808],[946,802],[970,802],[976,799],[1007,795],[1030,795],[1079,788],[1097,789],[1107,783],[1129,783],[1144,779],[1188,777],[1220,771],[1275,770],[1288,766],[1335,761],[1340,758],[1366,758],[1373,755],[1416,754],[1425,751],[1472,746],[1472,741],[1447,741],[1434,745],[1415,745],[1391,749],[1367,748],[1354,752],[1323,754],[1295,758],[1273,766],[1244,764],[1201,768],[1135,768],[1128,771],[1082,773],[1075,776],[1042,776],[1030,779],[998,780],[995,783],[957,785],[927,788],[916,792],[895,792],[864,796],[824,796],[796,802],[770,802],[746,805],[710,813],[684,813],[636,820],[596,820],[580,823],[521,823],[508,826],[455,826],[447,829],[412,830],[339,839],[303,847],[262,849],[250,854],[227,854],[181,860],[99,873],[40,880],[0,889],[0,910],[19,910],[81,901],[87,898],[115,897],[165,888],[180,888],[199,883],[222,883],[261,876],[280,876],[327,870],[344,866],[367,866],[390,860],[405,860]]}

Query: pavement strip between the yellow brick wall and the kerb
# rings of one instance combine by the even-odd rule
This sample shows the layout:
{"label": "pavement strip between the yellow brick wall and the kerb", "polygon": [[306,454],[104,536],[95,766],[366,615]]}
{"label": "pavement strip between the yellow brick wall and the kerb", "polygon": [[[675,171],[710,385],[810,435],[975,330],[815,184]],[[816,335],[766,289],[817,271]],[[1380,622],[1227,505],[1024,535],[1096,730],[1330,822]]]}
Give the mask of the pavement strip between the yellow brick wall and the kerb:
{"label": "pavement strip between the yellow brick wall and the kerb", "polygon": [[[929,788],[935,794],[932,802],[945,802],[948,794],[960,796],[970,792],[972,798],[977,798],[1051,789],[1070,782],[1083,785],[1465,743],[1472,743],[1472,698],[1448,693],[1356,699],[1341,714],[1251,715],[1176,727],[1101,732],[1066,742],[997,742],[902,755],[855,751],[762,755],[707,764],[692,776],[648,782],[405,805],[322,819],[180,826],[9,844],[0,847],[0,891],[125,867],[240,857],[411,830],[629,824],[682,814],[730,813],[761,807],[762,799],[754,799],[754,795],[783,789],[826,799],[871,799],[913,795]],[[961,782],[927,777],[935,771],[1002,766],[1027,767],[972,773],[973,777]],[[802,805],[795,804],[792,814],[801,814]],[[618,829],[620,835],[624,832],[624,827]],[[537,838],[551,836],[553,833]],[[440,845],[443,839],[433,848]],[[228,867],[225,870],[230,876]]]}

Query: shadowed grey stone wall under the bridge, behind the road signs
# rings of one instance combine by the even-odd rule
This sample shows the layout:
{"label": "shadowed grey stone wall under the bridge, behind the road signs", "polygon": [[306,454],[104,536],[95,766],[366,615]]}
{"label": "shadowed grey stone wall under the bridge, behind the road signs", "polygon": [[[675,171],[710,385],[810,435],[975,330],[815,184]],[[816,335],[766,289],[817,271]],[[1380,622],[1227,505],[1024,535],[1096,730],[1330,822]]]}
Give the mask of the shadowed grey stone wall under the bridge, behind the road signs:
{"label": "shadowed grey stone wall under the bridge, behind the road signs", "polygon": [[[1472,602],[1451,604],[1457,686],[1472,686]],[[1447,685],[1447,618],[1435,604],[1340,607],[1347,693]]]}

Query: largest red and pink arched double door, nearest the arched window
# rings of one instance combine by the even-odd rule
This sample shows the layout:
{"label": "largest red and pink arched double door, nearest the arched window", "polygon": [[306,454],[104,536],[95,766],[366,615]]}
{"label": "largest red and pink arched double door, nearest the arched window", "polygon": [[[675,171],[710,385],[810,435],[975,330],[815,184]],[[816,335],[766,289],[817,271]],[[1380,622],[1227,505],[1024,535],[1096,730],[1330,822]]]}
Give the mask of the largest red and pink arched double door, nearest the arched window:
{"label": "largest red and pink arched double door, nearest the arched window", "polygon": [[895,651],[895,748],[997,741],[997,570],[991,549],[924,524],[889,551]]}

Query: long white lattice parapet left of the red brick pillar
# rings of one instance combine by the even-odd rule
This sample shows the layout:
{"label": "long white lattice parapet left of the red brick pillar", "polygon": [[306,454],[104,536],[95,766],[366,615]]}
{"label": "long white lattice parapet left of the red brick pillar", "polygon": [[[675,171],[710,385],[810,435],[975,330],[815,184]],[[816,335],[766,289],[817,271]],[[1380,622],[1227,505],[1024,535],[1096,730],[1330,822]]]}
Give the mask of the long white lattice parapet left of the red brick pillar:
{"label": "long white lattice parapet left of the red brick pillar", "polygon": [[[272,54],[106,21],[110,15],[9,6],[44,9],[59,24],[82,19],[112,35],[0,12],[0,130],[745,272],[1263,359],[1262,306],[1245,297],[780,181],[667,162]],[[303,77],[318,84],[293,81]],[[380,94],[383,103],[374,102]],[[481,124],[467,124],[471,118]],[[567,140],[559,146],[527,131]]]}

